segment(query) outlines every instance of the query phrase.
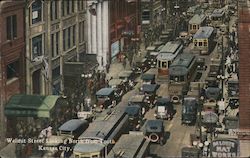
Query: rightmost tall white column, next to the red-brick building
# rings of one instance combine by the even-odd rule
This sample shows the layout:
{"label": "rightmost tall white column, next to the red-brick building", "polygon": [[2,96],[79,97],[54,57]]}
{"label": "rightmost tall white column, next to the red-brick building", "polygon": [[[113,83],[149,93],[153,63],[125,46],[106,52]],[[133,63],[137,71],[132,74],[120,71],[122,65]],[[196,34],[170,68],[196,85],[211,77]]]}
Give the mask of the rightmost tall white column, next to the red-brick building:
{"label": "rightmost tall white column, next to the red-brick building", "polygon": [[103,2],[103,8],[102,8],[102,32],[103,32],[103,67],[106,67],[109,60],[109,1]]}

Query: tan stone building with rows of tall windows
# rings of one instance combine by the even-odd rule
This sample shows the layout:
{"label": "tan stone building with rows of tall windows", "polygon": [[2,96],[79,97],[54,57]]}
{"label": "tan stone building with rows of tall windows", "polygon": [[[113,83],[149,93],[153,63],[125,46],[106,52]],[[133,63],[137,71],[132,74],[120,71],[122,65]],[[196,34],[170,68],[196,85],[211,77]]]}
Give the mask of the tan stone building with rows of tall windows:
{"label": "tan stone building with rows of tall windows", "polygon": [[61,94],[63,63],[85,53],[86,0],[27,0],[26,91]]}

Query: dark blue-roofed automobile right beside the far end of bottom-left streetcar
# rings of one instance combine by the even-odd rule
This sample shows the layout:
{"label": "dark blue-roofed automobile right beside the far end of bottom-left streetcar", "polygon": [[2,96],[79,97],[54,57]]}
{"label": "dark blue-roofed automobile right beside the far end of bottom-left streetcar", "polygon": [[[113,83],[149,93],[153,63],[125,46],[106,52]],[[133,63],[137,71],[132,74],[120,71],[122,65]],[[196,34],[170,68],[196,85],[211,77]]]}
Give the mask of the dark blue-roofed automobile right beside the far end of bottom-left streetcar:
{"label": "dark blue-roofed automobile right beside the far end of bottom-left streetcar", "polygon": [[130,131],[138,131],[142,121],[142,108],[140,105],[127,106],[125,112],[129,117]]}

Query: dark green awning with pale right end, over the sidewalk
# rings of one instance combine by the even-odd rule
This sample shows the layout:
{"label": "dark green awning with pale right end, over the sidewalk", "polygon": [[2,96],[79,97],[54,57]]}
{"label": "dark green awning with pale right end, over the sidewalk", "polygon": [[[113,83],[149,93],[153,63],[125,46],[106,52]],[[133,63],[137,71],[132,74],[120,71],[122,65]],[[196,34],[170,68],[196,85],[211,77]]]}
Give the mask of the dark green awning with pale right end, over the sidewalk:
{"label": "dark green awning with pale right end, over the sidewalk", "polygon": [[59,96],[49,95],[14,95],[4,108],[6,116],[15,117],[50,117],[50,110]]}

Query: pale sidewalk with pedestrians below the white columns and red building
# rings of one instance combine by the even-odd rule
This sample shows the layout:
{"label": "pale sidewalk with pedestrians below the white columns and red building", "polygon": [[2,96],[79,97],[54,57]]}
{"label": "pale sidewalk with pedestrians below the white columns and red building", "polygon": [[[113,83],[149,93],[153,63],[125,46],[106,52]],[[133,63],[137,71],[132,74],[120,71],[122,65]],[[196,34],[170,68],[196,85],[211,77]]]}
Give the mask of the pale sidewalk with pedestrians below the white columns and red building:
{"label": "pale sidewalk with pedestrians below the white columns and red building", "polygon": [[[145,57],[146,55],[146,49],[144,43],[140,44],[140,50],[141,55],[137,53],[134,55],[134,60],[139,60]],[[131,66],[129,65],[129,62],[127,61],[126,67],[123,67],[122,62],[114,61],[109,68],[109,73],[106,74],[106,80],[109,80],[111,77],[117,78],[119,73],[123,70],[131,70]]]}

